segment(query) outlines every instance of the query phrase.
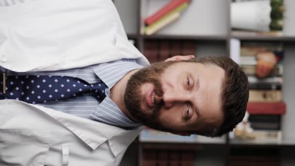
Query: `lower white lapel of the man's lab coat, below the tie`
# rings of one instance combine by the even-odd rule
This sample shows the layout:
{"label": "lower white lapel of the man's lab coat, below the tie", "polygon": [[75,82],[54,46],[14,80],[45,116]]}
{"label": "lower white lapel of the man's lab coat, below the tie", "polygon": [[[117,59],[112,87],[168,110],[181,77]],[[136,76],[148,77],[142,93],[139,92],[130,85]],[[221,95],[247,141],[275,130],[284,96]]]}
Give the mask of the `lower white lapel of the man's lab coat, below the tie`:
{"label": "lower white lapel of the man's lab coat, below the tie", "polygon": [[[23,104],[27,103],[23,102]],[[115,156],[126,149],[143,129],[143,127],[139,127],[134,130],[125,130],[38,105],[30,105],[59,121],[93,150],[97,149],[99,145],[108,140],[110,149]]]}

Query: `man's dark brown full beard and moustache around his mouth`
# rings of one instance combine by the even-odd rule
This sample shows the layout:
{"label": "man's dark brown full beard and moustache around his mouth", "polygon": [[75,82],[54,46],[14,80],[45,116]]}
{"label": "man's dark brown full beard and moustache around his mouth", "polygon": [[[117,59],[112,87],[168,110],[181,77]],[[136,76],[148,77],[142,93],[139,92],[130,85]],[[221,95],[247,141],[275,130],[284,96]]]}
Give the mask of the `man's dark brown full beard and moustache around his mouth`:
{"label": "man's dark brown full beard and moustache around his mouth", "polygon": [[148,126],[149,128],[167,131],[159,119],[160,110],[164,106],[164,101],[163,98],[154,98],[151,110],[143,109],[141,103],[144,103],[142,99],[145,101],[146,97],[141,92],[141,86],[144,83],[152,83],[155,87],[155,95],[162,97],[163,88],[160,78],[165,69],[174,63],[176,63],[176,61],[154,63],[138,70],[136,73],[131,75],[128,80],[124,94],[125,106],[131,116],[133,116],[139,123]]}

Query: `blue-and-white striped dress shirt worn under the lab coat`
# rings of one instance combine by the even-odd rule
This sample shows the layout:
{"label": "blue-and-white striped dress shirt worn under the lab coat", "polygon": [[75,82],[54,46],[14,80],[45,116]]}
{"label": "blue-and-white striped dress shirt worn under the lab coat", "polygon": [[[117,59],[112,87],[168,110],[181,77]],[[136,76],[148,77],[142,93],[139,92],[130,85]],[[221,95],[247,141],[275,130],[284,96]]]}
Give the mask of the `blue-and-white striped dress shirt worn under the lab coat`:
{"label": "blue-and-white striped dress shirt worn under the lab coat", "polygon": [[110,99],[110,89],[126,73],[131,70],[142,68],[143,66],[136,63],[134,59],[122,59],[114,62],[103,63],[98,65],[86,66],[82,68],[73,68],[59,71],[43,72],[14,72],[0,68],[6,75],[56,75],[78,77],[88,83],[96,83],[98,79],[103,81],[107,87],[105,89],[106,98],[98,102],[91,94],[82,97],[71,98],[60,101],[50,101],[38,103],[47,108],[68,113],[83,118],[97,120],[110,125],[118,126],[125,129],[133,129],[140,124],[130,120]]}

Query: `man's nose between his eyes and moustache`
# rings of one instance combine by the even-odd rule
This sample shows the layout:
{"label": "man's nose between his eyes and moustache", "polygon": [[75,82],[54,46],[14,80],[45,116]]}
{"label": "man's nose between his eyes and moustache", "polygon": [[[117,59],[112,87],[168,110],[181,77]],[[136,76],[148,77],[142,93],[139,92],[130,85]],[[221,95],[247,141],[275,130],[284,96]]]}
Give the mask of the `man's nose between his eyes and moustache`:
{"label": "man's nose between his eyes and moustache", "polygon": [[166,109],[171,108],[174,104],[179,102],[186,102],[189,100],[189,94],[183,92],[177,92],[174,90],[167,90],[163,95],[164,107]]}

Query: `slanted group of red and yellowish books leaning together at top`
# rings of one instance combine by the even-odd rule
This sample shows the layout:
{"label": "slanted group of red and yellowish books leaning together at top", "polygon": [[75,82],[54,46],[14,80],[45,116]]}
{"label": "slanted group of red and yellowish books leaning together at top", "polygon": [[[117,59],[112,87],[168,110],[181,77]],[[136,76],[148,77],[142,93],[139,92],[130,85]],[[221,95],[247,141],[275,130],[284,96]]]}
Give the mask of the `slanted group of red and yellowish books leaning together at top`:
{"label": "slanted group of red and yellowish books leaning together at top", "polygon": [[145,34],[151,35],[180,17],[191,0],[171,0],[164,7],[145,19]]}

